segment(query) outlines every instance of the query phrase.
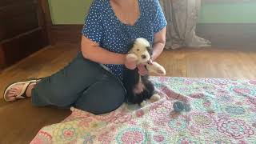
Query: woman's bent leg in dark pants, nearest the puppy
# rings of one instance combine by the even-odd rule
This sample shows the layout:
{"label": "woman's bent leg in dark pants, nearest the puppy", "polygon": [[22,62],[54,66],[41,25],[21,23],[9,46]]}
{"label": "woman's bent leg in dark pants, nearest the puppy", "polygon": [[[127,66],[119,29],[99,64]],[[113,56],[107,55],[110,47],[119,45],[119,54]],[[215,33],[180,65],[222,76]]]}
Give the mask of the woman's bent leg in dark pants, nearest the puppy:
{"label": "woman's bent leg in dark pants, nearest the puppy", "polygon": [[121,106],[125,98],[126,91],[120,82],[102,82],[86,90],[75,106],[93,114],[104,114]]}

